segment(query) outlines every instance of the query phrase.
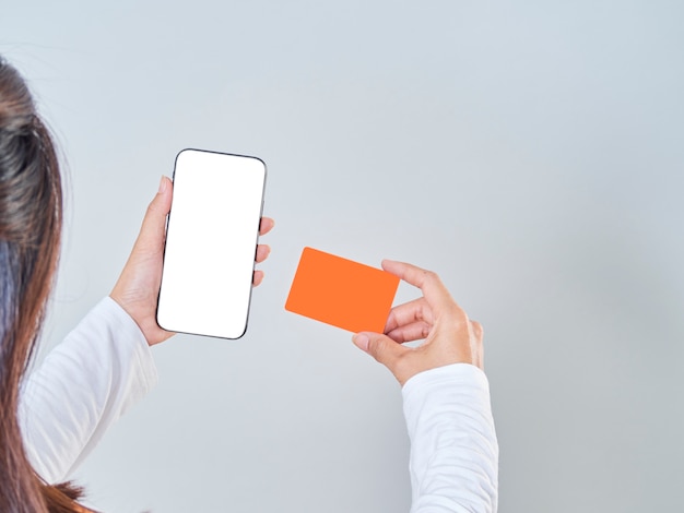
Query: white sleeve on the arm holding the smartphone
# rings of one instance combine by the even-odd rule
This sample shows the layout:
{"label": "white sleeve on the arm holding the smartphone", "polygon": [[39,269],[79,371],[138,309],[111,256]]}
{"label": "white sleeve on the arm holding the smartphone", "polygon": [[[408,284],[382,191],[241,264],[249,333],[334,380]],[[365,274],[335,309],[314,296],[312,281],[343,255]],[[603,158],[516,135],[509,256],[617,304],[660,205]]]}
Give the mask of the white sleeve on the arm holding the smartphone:
{"label": "white sleeve on the arm holding the smartphone", "polygon": [[50,484],[67,478],[156,381],[142,332],[103,299],[24,383],[20,423],[36,473]]}

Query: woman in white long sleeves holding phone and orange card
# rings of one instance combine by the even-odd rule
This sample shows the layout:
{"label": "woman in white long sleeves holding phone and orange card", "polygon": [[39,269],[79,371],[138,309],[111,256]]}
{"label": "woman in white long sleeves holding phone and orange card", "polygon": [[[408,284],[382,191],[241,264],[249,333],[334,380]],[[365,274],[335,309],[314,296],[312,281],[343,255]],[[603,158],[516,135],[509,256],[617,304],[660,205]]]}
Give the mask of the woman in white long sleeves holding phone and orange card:
{"label": "woman in white long sleeves holding phone and orange card", "polygon": [[[163,178],[110,296],[32,374],[20,404],[57,266],[61,189],[50,136],[23,80],[0,58],[0,511],[90,511],[78,503],[80,489],[48,482],[67,477],[156,380],[149,346],[173,335],[154,314],[172,188]],[[261,235],[272,226],[263,218]],[[257,262],[268,253],[259,246]],[[385,334],[353,341],[403,387],[412,512],[496,511],[498,446],[482,326],[436,274],[382,265],[423,297],[392,309]],[[262,277],[257,271],[255,285]],[[417,348],[401,345],[422,338]]]}

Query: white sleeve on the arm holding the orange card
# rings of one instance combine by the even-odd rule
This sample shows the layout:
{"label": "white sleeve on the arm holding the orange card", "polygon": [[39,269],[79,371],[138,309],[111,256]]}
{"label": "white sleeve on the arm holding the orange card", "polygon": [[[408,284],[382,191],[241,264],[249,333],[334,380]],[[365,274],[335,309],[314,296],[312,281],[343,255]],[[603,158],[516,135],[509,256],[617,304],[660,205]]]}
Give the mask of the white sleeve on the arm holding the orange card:
{"label": "white sleeve on the arm holding the orange card", "polygon": [[411,378],[402,394],[411,512],[496,512],[498,444],[484,372],[465,363],[440,367]]}

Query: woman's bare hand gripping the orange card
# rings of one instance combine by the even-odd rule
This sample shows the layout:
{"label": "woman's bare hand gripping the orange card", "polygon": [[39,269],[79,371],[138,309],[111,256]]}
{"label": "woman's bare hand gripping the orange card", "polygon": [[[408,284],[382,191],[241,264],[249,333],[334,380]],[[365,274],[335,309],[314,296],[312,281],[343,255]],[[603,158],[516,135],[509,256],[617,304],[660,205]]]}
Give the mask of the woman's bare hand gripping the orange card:
{"label": "woman's bare hand gripping the orange card", "polygon": [[[382,269],[418,287],[423,297],[392,308],[385,333],[361,332],[352,339],[394,374],[403,386],[418,372],[451,363],[483,368],[482,325],[471,321],[439,276],[403,262],[382,261]],[[417,347],[404,342],[425,339]]]}

